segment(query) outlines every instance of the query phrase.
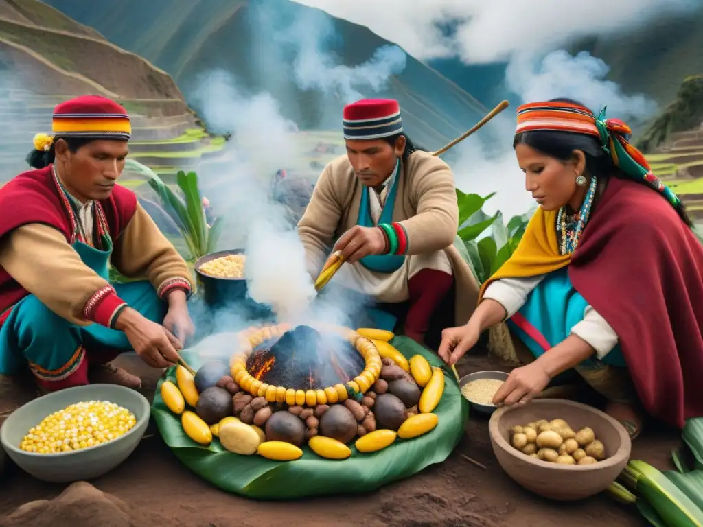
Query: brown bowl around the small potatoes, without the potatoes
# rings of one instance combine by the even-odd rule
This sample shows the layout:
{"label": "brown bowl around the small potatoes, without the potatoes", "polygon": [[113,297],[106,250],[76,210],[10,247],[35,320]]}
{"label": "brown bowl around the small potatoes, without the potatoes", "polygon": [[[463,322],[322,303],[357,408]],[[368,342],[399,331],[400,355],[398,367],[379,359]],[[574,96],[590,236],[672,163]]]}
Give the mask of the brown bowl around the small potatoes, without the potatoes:
{"label": "brown bowl around the small potatoes, without the potatoes", "polygon": [[[574,431],[591,427],[605,446],[606,459],[595,464],[565,465],[538,460],[510,445],[510,428],[539,419],[565,419]],[[615,419],[591,406],[563,399],[541,399],[527,405],[498,408],[489,434],[498,462],[512,479],[531,492],[552,500],[581,500],[615,481],[630,457],[632,443]]]}

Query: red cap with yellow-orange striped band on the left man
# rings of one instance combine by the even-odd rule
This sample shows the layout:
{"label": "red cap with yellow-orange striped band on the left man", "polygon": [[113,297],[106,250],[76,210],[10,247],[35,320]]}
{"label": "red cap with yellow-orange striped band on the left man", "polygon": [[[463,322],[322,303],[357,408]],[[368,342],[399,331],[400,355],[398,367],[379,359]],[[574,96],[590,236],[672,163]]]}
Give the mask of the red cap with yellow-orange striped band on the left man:
{"label": "red cap with yellow-orange striped band on the left man", "polygon": [[99,95],[86,95],[60,103],[53,110],[55,136],[129,139],[127,110]]}

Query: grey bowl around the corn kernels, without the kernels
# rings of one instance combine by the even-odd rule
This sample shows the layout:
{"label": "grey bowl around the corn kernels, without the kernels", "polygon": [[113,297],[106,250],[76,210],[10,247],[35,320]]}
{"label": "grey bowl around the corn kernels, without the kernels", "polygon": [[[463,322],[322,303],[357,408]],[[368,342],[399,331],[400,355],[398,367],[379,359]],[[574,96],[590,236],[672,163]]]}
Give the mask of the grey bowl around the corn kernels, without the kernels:
{"label": "grey bowl around the corn kernels, without the kernels", "polygon": [[[46,416],[83,401],[110,401],[134,413],[136,424],[127,434],[101,445],[60,454],[38,454],[18,446],[30,428]],[[18,467],[42,481],[70,483],[97,478],[129,457],[149,422],[149,401],[138,391],[115,384],[89,384],[55,391],[20,406],[0,428],[0,443]]]}

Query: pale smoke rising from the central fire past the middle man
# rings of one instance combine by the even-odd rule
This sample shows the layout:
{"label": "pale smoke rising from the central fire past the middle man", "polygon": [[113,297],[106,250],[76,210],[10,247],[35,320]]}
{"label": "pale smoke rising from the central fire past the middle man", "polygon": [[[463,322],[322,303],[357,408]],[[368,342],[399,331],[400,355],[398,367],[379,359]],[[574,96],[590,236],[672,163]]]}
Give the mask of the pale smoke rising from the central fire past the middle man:
{"label": "pale smoke rising from the central fire past the middle man", "polygon": [[[326,51],[334,27],[323,13],[310,11],[287,22],[265,3],[257,4],[256,9],[254,24],[285,26],[274,39],[278,50],[265,59],[266,69],[290,67],[283,62],[286,53],[292,53],[290,64],[297,86],[321,92],[321,100],[333,96],[346,103],[363,98],[362,91],[370,95],[383,89],[390,77],[405,67],[406,55],[397,46],[380,48],[370,60],[354,67],[342,65]],[[203,164],[198,174],[203,194],[215,213],[225,219],[220,245],[245,249],[245,278],[251,299],[271,306],[279,322],[350,325],[364,299],[342,299],[335,292],[316,296],[290,211],[272,199],[271,181],[276,171],[306,168],[297,125],[282,117],[280,103],[271,94],[251,95],[223,71],[200,75],[193,91],[191,103],[209,128],[232,134],[226,166]],[[202,323],[216,334],[231,334],[253,323],[250,313],[233,306],[204,316],[208,320]],[[207,343],[217,354],[223,346],[231,345],[231,338],[212,337]]]}

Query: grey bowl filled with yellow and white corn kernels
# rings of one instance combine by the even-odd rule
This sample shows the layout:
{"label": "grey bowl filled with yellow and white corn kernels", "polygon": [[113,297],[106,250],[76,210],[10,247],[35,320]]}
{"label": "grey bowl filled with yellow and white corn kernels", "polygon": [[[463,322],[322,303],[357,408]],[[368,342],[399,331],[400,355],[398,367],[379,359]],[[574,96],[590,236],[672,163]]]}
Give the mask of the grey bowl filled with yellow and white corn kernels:
{"label": "grey bowl filled with yellow and white corn kernels", "polygon": [[138,391],[89,384],[48,393],[21,406],[0,428],[0,443],[22,470],[42,481],[93,479],[129,457],[149,422]]}

